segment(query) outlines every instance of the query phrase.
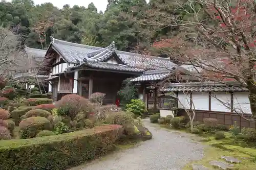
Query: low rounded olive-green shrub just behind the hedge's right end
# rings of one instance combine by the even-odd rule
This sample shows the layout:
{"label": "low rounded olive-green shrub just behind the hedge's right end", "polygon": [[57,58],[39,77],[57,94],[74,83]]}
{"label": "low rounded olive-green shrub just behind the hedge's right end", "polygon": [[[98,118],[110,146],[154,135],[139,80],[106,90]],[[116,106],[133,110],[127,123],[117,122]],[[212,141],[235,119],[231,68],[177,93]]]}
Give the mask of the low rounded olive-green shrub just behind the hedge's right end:
{"label": "low rounded olive-green shrub just behind the hedge's right end", "polygon": [[131,114],[127,114],[127,112],[113,112],[105,121],[108,124],[124,125],[133,123],[134,118]]}

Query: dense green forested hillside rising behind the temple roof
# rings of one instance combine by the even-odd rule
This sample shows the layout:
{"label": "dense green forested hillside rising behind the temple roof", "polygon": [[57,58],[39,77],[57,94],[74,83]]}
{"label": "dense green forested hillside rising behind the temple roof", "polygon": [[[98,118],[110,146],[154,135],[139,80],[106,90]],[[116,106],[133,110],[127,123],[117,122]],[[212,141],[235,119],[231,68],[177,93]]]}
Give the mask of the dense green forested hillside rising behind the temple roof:
{"label": "dense green forested hillside rising behind the temple roof", "polygon": [[108,1],[104,12],[97,11],[93,3],[58,9],[51,3],[34,5],[33,0],[2,1],[0,23],[20,35],[23,44],[40,49],[46,49],[53,36],[102,47],[115,41],[118,50],[148,54],[148,46],[172,33],[165,25],[147,22],[152,11],[173,13],[164,0],[151,0],[148,4],[145,0]]}

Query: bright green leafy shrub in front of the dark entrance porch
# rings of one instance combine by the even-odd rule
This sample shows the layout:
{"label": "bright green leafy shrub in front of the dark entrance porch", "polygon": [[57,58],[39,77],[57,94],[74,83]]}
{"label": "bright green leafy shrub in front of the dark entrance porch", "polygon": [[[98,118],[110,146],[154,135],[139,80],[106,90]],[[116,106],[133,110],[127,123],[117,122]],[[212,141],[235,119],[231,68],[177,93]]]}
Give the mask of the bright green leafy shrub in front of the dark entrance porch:
{"label": "bright green leafy shrub in front of the dark entrance porch", "polygon": [[136,117],[141,116],[146,111],[145,103],[140,99],[132,99],[131,103],[126,105],[126,110],[134,113]]}

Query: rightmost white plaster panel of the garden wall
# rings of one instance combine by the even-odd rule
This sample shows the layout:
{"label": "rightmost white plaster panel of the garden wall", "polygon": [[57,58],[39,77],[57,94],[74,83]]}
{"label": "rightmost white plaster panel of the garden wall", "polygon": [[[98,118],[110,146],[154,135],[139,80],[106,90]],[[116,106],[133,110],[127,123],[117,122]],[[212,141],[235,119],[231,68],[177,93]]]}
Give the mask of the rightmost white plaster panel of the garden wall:
{"label": "rightmost white plaster panel of the garden wall", "polygon": [[248,98],[249,92],[234,92],[233,108],[242,113],[251,114],[250,102]]}

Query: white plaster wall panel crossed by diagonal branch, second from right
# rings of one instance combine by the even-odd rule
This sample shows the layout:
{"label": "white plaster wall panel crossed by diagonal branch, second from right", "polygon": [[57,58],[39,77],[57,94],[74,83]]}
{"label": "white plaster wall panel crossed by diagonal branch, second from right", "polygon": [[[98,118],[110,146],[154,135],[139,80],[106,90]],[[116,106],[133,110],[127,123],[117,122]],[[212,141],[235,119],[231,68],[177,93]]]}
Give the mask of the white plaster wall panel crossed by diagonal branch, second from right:
{"label": "white plaster wall panel crossed by diagonal branch, second from right", "polygon": [[215,92],[215,93],[212,93],[212,95],[216,95],[216,98],[211,96],[211,110],[212,111],[223,111],[223,112],[231,111],[230,108],[227,108],[220,102],[220,101],[222,101],[223,103],[228,103],[230,105],[231,94],[229,92]]}

